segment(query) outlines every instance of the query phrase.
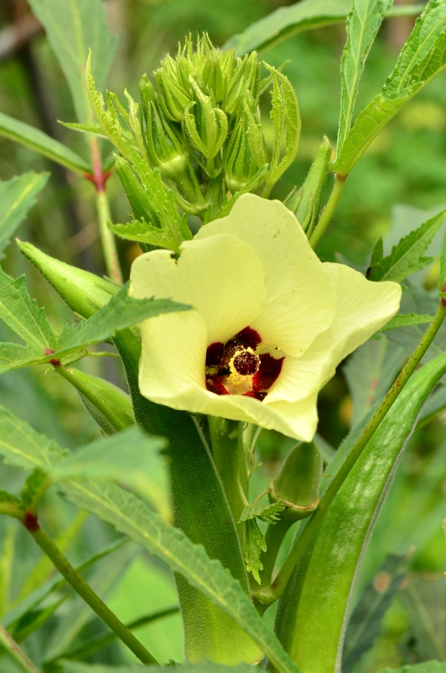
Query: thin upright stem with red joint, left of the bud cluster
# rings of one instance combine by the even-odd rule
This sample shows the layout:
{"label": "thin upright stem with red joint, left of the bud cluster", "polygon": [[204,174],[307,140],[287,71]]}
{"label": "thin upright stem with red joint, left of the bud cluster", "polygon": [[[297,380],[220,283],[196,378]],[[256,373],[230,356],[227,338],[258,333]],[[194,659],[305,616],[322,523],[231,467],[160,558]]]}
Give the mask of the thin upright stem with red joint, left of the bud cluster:
{"label": "thin upright stem with red joint, left of the bud cluster", "polygon": [[116,249],[115,236],[113,235],[113,231],[110,231],[109,227],[107,227],[107,220],[110,219],[109,200],[105,191],[105,183],[107,182],[108,174],[102,172],[99,146],[96,138],[91,139],[90,146],[94,170],[92,182],[96,188],[96,209],[98,210],[99,231],[105,266],[111,280],[122,285],[122,273],[118,251]]}

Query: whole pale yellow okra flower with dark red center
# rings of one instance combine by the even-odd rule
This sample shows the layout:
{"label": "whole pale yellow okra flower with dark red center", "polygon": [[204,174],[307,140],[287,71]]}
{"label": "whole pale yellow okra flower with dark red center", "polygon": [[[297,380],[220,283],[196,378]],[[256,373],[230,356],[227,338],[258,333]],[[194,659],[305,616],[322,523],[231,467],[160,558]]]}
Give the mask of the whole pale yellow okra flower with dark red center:
{"label": "whole pale yellow okra flower with dark red center", "polygon": [[254,194],[184,242],[179,259],[140,255],[131,281],[134,297],[193,307],[141,324],[143,396],[304,442],[317,393],[401,299],[397,283],[320,262],[287,207]]}

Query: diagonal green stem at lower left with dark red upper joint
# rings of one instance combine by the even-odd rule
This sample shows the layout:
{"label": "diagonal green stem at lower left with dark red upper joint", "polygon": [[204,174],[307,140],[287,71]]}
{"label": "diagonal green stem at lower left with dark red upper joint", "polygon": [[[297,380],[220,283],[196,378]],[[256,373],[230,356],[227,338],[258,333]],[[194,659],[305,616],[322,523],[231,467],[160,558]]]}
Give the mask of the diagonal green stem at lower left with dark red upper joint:
{"label": "diagonal green stem at lower left with dark red upper joint", "polygon": [[52,560],[61,575],[67,580],[74,591],[91,607],[91,609],[98,615],[102,621],[118,636],[120,640],[135,654],[135,656],[144,664],[157,664],[157,660],[148,650],[135,638],[133,633],[129,631],[122,621],[114,615],[107,605],[100,600],[100,597],[91,589],[91,586],[76,572],[69,561],[63,556],[61,551],[56,547],[54,542],[47,536],[47,534],[38,525],[36,519],[33,525],[27,525],[27,529],[33,536],[34,540],[45,554]]}

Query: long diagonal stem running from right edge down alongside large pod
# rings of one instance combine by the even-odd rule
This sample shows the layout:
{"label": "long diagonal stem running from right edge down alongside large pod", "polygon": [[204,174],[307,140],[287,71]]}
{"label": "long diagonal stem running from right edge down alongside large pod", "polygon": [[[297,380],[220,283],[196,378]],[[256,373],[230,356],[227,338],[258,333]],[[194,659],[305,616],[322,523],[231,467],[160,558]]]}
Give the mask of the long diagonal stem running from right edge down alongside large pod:
{"label": "long diagonal stem running from right edge down alongside large pod", "polygon": [[362,431],[361,435],[359,435],[355,445],[353,446],[352,450],[344,460],[344,463],[342,463],[342,465],[340,466],[335,477],[333,477],[330,486],[328,486],[324,494],[324,497],[322,497],[322,500],[320,501],[319,507],[317,507],[317,510],[315,511],[313,516],[311,516],[311,518],[309,519],[309,522],[307,523],[306,527],[302,530],[302,534],[296,540],[293,549],[291,549],[289,556],[285,561],[285,563],[283,564],[282,569],[278,573],[276,579],[267,589],[264,590],[260,589],[256,592],[256,599],[259,600],[260,602],[270,604],[275,600],[277,600],[280,595],[282,595],[282,592],[284,591],[285,586],[289,578],[291,577],[291,573],[293,573],[294,568],[302,558],[302,555],[304,554],[306,547],[309,545],[309,542],[313,537],[313,534],[315,533],[317,526],[320,524],[320,521],[324,516],[326,510],[328,510],[328,507],[330,506],[335,495],[339,491],[339,488],[341,488],[342,484],[350,474],[350,471],[355,466],[357,459],[366,448],[368,442],[375,434],[375,431],[377,431],[377,429],[379,428],[379,425],[386,417],[386,414],[388,413],[390,407],[392,407],[394,401],[399,396],[399,393],[401,393],[401,390],[403,389],[405,384],[408,383],[410,376],[412,376],[416,367],[418,367],[421,358],[423,358],[423,355],[427,351],[427,348],[431,345],[434,336],[441,328],[441,325],[445,317],[446,317],[446,301],[444,301],[444,299],[441,299],[440,306],[438,306],[438,310],[434,315],[434,318],[432,319],[430,326],[427,328],[425,334],[421,338],[419,345],[416,346],[414,352],[412,353],[407,363],[405,363],[405,366],[401,370],[401,373],[399,374],[397,380],[394,382],[394,384],[388,391],[386,397],[379,405],[377,411],[375,411],[375,414],[372,416],[372,418]]}

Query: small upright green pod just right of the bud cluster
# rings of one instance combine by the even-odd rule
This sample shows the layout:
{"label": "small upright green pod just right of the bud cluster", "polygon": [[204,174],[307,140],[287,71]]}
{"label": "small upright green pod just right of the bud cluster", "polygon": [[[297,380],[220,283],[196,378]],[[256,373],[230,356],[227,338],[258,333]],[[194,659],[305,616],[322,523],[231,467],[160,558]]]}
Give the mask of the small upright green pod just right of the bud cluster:
{"label": "small upright green pod just right of the bud cluster", "polygon": [[331,157],[331,143],[326,136],[317,149],[310,170],[299,190],[291,194],[285,205],[298,218],[302,229],[313,229],[320,213],[322,194],[328,174]]}

